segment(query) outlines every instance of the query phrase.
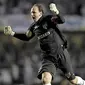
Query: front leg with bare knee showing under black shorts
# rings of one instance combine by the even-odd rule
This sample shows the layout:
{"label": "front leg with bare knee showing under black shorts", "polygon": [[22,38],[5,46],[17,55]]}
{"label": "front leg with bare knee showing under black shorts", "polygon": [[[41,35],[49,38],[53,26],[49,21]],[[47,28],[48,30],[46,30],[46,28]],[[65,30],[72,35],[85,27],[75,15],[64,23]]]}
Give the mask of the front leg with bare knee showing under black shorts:
{"label": "front leg with bare knee showing under black shorts", "polygon": [[56,68],[53,62],[44,59],[39,69],[38,78],[41,79],[43,85],[51,85],[51,81],[56,74]]}

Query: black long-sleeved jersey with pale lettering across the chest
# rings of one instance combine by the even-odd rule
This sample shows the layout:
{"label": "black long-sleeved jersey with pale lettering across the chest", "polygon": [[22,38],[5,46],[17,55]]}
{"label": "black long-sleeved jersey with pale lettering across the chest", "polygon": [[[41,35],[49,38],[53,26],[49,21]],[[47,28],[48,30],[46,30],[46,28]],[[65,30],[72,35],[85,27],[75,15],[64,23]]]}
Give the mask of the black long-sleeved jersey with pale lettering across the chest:
{"label": "black long-sleeved jersey with pale lettering across the chest", "polygon": [[62,52],[61,44],[66,42],[57,26],[57,24],[62,23],[64,23],[64,19],[60,15],[43,15],[29,27],[28,30],[32,33],[32,36],[27,37],[26,34],[16,33],[14,37],[21,40],[29,40],[36,35],[40,42],[42,53],[45,56],[54,56]]}

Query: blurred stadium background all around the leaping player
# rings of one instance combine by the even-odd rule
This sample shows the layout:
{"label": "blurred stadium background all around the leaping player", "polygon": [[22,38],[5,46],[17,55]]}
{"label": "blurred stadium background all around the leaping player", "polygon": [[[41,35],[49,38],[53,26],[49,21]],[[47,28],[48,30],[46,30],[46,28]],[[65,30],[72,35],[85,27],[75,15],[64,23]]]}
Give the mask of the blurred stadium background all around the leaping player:
{"label": "blurred stadium background all around the leaping player", "polygon": [[[85,79],[85,0],[0,0],[0,85],[42,85],[37,79],[41,65],[40,48],[36,37],[23,42],[3,34],[4,26],[15,32],[26,32],[32,23],[30,8],[41,3],[46,13],[48,5],[55,2],[65,24],[60,30],[68,40],[68,50],[74,73]],[[70,85],[60,70],[53,85]]]}

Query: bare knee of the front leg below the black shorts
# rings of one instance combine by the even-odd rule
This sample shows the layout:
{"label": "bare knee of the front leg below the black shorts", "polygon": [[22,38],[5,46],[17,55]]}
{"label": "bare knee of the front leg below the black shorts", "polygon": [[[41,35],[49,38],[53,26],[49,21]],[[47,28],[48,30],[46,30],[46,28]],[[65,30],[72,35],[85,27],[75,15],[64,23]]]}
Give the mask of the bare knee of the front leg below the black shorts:
{"label": "bare knee of the front leg below the black shorts", "polygon": [[42,82],[44,84],[51,83],[51,80],[52,80],[52,75],[49,72],[44,72],[42,74]]}

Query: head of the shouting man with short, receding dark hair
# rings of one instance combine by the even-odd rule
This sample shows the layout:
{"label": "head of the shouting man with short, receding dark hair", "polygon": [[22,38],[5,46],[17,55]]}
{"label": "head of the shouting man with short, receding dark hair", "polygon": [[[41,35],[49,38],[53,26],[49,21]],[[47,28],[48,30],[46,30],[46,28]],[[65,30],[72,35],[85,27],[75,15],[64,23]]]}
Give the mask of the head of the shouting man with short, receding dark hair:
{"label": "head of the shouting man with short, receding dark hair", "polygon": [[35,4],[31,8],[31,16],[34,21],[38,21],[39,18],[43,15],[43,8],[41,4]]}

